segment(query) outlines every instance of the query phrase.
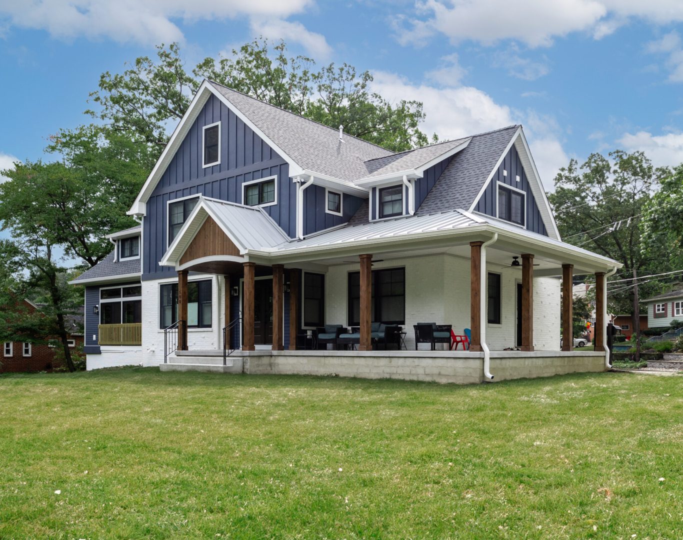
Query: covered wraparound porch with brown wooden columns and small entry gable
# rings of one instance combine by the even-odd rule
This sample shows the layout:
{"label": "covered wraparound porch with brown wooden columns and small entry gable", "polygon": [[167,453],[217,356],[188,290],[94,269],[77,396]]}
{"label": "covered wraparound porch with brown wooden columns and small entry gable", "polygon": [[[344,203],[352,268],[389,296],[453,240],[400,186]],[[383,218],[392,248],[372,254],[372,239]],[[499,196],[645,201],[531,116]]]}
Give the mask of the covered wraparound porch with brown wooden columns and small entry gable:
{"label": "covered wraparound porch with brown wooden columns and small entry gable", "polygon": [[[560,313],[563,320],[572,320],[572,275],[595,274],[596,326],[604,328],[608,270],[602,261],[568,252],[566,244],[546,238],[530,242],[505,227],[374,240],[369,242],[372,251],[362,242],[315,245],[311,240],[292,242],[292,248],[282,252],[250,251],[220,223],[220,216],[207,212],[184,242],[169,248],[163,261],[178,271],[178,350],[163,369],[215,365],[251,373],[267,365],[273,373],[294,369],[291,372],[379,376],[393,375],[393,369],[397,375],[428,375],[413,371],[441,373],[460,366],[462,377],[491,380],[495,375],[500,380],[505,375],[494,374],[493,366],[503,370],[507,360],[519,376],[555,372],[558,366],[592,371],[606,365],[604,332],[598,332],[597,353],[574,353],[572,325],[562,325],[565,345],[560,351]],[[223,276],[223,341],[218,350],[192,350],[189,345],[190,272]],[[456,335],[468,329],[469,350],[449,350],[450,340],[437,344],[441,350],[435,351],[428,343],[416,343],[415,325],[432,322],[451,326]],[[378,350],[373,323],[399,326],[405,347],[385,343]],[[356,350],[349,351],[346,343],[339,346],[339,341],[316,340],[326,325],[354,334],[357,339],[347,343]],[[359,362],[367,363],[370,371],[342,369]],[[462,370],[467,369],[474,371],[466,375]],[[434,378],[426,380],[440,376],[430,375]]]}

